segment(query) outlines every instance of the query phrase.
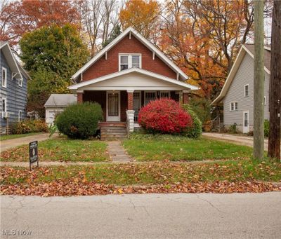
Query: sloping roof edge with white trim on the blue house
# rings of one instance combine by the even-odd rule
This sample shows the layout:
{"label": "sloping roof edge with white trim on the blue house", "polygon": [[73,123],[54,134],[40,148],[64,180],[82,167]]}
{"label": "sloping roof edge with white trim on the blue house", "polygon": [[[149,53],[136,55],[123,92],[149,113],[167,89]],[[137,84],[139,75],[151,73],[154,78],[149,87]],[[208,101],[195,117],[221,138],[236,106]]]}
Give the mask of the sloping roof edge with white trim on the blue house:
{"label": "sloping roof edge with white trim on the blue house", "polygon": [[5,58],[8,62],[9,67],[11,68],[11,71],[15,74],[15,78],[22,78],[22,75],[25,76],[25,78],[30,79],[29,74],[27,74],[27,71],[22,68],[20,65],[20,62],[15,59],[15,56],[12,53],[12,50],[8,44],[8,41],[0,41],[0,49],[5,55]]}

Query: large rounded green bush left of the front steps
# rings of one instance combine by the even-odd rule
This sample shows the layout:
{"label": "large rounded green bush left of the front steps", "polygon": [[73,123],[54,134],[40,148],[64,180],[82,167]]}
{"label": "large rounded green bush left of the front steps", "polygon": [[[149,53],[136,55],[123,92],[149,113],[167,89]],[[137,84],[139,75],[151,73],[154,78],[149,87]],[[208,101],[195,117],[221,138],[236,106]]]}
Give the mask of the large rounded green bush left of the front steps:
{"label": "large rounded green bush left of the front steps", "polygon": [[55,119],[58,130],[72,139],[87,139],[95,135],[103,110],[98,103],[84,102],[65,108]]}

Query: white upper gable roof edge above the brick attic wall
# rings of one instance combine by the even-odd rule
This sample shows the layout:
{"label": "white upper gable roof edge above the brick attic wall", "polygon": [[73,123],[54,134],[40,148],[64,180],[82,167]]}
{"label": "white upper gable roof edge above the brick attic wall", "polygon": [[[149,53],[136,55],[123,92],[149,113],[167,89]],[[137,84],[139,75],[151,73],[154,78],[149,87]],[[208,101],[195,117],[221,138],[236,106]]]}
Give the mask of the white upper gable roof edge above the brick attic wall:
{"label": "white upper gable roof edge above the brick attic wall", "polygon": [[124,32],[122,32],[122,34],[117,36],[116,39],[114,39],[105,48],[103,48],[103,50],[100,50],[100,52],[98,54],[96,54],[89,62],[84,64],[84,67],[81,67],[81,69],[79,69],[79,71],[77,71],[72,76],[72,78],[74,80],[77,79],[80,74],[82,74],[84,71],[86,71],[86,69],[91,67],[92,64],[94,64],[98,59],[100,59],[100,57],[105,55],[105,53],[107,53],[108,50],[110,50],[113,46],[115,46],[117,43],[119,43],[119,41],[121,41],[127,34],[133,34],[133,36],[135,36],[136,39],[141,41],[141,43],[143,43],[153,53],[155,53],[155,55],[157,55],[157,57],[159,57],[161,60],[163,60],[169,67],[171,67],[171,69],[176,71],[176,73],[179,75],[179,79],[181,79],[181,81],[186,81],[188,79],[188,76],[179,67],[177,67],[176,64],[174,64],[174,62],[172,62],[168,57],[166,57],[166,55],[164,55],[164,53],[162,53],[161,50],[159,50],[156,46],[154,46],[152,43],[150,43],[150,41],[145,39],[140,33],[138,33],[135,29],[133,29],[133,27],[128,27]]}

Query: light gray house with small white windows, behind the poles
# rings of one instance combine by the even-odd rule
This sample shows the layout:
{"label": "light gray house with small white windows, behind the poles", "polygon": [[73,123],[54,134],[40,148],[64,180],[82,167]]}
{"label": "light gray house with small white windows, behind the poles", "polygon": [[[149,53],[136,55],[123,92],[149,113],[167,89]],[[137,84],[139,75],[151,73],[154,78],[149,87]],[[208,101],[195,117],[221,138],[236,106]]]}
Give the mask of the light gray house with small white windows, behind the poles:
{"label": "light gray house with small white windows, behind the poles", "polygon": [[[269,118],[270,46],[264,47],[264,118]],[[254,45],[244,44],[216,100],[223,102],[223,125],[234,123],[237,130],[247,133],[254,126]]]}

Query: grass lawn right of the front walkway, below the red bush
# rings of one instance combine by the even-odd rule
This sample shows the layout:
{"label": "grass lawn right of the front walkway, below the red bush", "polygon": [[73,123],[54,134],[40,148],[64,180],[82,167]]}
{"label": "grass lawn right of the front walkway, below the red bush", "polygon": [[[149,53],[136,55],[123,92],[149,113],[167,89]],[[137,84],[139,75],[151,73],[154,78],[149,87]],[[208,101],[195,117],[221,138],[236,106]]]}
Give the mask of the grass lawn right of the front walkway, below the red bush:
{"label": "grass lawn right of the front walkway, below the red bush", "polygon": [[133,134],[123,143],[137,161],[202,161],[250,158],[252,149],[214,139]]}

